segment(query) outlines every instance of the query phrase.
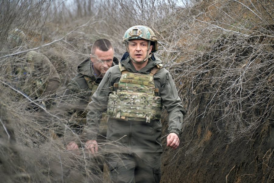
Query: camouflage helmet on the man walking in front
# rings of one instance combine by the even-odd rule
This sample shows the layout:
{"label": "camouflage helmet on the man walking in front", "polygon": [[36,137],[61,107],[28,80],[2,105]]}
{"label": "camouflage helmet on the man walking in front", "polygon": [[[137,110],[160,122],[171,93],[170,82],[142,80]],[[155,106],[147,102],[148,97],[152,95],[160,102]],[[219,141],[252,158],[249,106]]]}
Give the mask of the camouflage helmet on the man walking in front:
{"label": "camouflage helmet on the man walking in front", "polygon": [[144,25],[130,27],[125,32],[122,43],[127,47],[127,41],[132,39],[146,39],[151,41],[150,45],[153,45],[151,52],[156,52],[158,50],[157,37],[149,27]]}

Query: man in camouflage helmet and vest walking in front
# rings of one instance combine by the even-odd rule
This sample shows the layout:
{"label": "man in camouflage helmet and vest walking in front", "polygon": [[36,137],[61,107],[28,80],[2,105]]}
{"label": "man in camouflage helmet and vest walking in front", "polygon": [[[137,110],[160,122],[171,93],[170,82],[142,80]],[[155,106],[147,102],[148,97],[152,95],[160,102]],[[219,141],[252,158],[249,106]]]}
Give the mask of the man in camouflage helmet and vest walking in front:
{"label": "man in camouflage helmet and vest walking in front", "polygon": [[169,114],[167,146],[173,149],[179,146],[184,109],[170,73],[153,55],[158,49],[153,31],[131,27],[122,42],[127,52],[107,71],[87,107],[86,148],[97,152],[99,119],[107,111],[105,146],[112,181],[160,182],[162,106]]}

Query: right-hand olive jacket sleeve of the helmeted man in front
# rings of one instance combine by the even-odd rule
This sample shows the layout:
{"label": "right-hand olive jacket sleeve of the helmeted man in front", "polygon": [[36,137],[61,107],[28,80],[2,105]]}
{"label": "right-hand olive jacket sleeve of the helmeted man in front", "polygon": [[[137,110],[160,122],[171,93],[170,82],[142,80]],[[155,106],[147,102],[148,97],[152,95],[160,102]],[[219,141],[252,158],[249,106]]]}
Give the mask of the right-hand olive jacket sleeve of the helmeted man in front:
{"label": "right-hand olive jacket sleeve of the helmeted man in front", "polygon": [[160,97],[162,98],[163,106],[168,113],[168,133],[175,133],[181,135],[183,126],[184,109],[182,101],[178,96],[175,83],[167,71],[163,78],[163,85],[161,86]]}

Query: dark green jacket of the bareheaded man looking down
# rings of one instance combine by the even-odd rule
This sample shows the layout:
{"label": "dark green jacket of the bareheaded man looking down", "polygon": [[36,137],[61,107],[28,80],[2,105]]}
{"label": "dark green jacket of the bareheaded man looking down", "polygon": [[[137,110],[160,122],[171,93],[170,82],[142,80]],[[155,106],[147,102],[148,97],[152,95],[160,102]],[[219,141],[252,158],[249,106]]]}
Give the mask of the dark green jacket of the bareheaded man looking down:
{"label": "dark green jacket of the bareheaded man looking down", "polygon": [[97,77],[93,73],[90,58],[83,61],[77,71],[78,74],[68,83],[61,97],[58,110],[64,110],[63,115],[70,118],[70,124],[83,126],[86,124],[86,106],[91,101],[91,96],[97,90],[102,77]]}

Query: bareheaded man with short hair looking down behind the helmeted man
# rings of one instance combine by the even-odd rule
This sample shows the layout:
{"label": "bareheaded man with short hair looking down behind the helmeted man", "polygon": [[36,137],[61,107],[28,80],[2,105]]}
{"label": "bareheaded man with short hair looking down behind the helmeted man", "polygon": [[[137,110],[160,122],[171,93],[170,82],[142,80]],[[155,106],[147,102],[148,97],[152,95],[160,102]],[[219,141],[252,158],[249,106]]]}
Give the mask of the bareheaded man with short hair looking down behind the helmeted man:
{"label": "bareheaded man with short hair looking down behind the helmeted man", "polygon": [[[64,110],[62,115],[69,117],[68,129],[65,130],[65,134],[61,134],[68,139],[66,140],[68,142],[67,150],[74,150],[76,154],[79,154],[80,142],[85,141],[81,139],[81,134],[86,125],[86,106],[91,101],[91,96],[97,90],[107,70],[115,63],[118,63],[118,59],[114,57],[114,48],[111,42],[107,39],[98,39],[92,45],[90,57],[78,66],[78,74],[67,85],[61,102],[58,104],[58,111]],[[106,113],[100,116],[100,120],[99,140],[104,143],[107,132]],[[103,161],[95,162],[99,171],[103,171]],[[98,177],[102,175],[101,173],[99,172]]]}

